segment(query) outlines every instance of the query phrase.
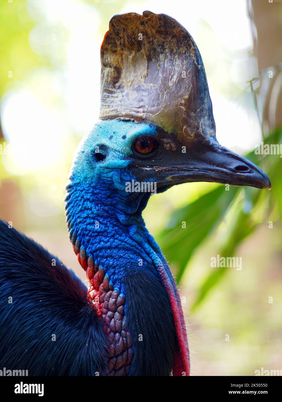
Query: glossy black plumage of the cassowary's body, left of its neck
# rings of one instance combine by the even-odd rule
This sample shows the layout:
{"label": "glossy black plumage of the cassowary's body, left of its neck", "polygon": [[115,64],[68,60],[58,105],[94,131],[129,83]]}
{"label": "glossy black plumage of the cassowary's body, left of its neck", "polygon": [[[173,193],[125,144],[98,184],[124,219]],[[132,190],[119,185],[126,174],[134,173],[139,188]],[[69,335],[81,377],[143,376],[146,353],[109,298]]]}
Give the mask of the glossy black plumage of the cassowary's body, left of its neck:
{"label": "glossy black plumage of the cassowary's body, left of its neck", "polygon": [[0,322],[0,367],[29,375],[103,375],[107,338],[86,287],[1,220]]}

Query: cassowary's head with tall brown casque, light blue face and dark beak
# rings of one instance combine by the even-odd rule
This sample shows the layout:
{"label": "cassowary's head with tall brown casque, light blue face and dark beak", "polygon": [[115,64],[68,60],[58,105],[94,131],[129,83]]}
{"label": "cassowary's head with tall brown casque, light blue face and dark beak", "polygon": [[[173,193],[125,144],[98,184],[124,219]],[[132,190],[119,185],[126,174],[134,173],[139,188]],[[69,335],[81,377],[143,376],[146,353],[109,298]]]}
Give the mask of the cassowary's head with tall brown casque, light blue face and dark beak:
{"label": "cassowary's head with tall brown casque, light blue face and dark beak", "polygon": [[100,119],[78,148],[72,180],[95,186],[121,210],[179,183],[270,188],[257,166],[217,142],[202,58],[167,15],[111,19],[101,47]]}

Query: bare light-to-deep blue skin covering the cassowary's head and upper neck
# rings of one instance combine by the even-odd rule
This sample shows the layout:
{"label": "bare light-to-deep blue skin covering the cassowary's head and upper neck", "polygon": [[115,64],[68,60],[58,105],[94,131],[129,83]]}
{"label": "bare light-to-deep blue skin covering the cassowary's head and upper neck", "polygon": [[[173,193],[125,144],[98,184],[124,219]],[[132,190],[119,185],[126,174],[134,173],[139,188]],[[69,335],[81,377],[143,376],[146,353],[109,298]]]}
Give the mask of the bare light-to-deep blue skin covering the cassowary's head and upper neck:
{"label": "bare light-to-deep blue skin covering the cassowary's head and upper neck", "polygon": [[[147,123],[99,121],[82,139],[67,185],[66,214],[70,238],[84,258],[103,268],[110,285],[125,295],[123,279],[130,271],[148,269],[158,276],[165,258],[145,228],[141,213],[149,193],[126,192],[131,172],[131,147],[137,137],[157,134]],[[95,155],[99,153],[105,156]],[[97,154],[97,152],[96,152]],[[147,181],[154,180],[148,177]]]}

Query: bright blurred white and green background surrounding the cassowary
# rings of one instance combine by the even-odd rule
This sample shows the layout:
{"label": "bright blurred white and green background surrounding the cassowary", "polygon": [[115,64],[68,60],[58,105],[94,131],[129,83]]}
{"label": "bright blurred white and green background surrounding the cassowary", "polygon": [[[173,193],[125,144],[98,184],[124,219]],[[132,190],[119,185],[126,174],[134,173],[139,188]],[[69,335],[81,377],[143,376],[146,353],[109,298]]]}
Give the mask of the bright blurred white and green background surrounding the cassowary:
{"label": "bright blurred white and green background surrounding the cassowary", "polygon": [[[151,197],[144,219],[177,278],[193,375],[282,369],[282,4],[268,0],[6,0],[0,3],[0,218],[85,281],[68,240],[64,186],[99,113],[99,49],[111,16],[150,10],[196,41],[218,141],[272,190],[193,183]],[[187,222],[182,228],[182,222]],[[242,270],[211,257],[242,258]]]}

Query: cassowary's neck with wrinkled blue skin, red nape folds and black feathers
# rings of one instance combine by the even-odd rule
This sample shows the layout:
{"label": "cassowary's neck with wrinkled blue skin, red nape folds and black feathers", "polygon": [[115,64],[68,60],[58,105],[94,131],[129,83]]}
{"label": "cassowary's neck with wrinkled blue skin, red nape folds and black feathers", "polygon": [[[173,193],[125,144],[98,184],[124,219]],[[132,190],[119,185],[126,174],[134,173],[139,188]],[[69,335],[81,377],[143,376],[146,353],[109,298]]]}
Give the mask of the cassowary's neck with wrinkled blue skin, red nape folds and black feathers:
{"label": "cassowary's neck with wrinkled blue skin, red nape folds and black feathers", "polygon": [[107,375],[169,375],[173,368],[168,295],[176,289],[169,288],[169,267],[141,217],[147,201],[146,194],[105,191],[99,182],[68,186],[70,238],[89,279],[89,302],[110,340]]}

